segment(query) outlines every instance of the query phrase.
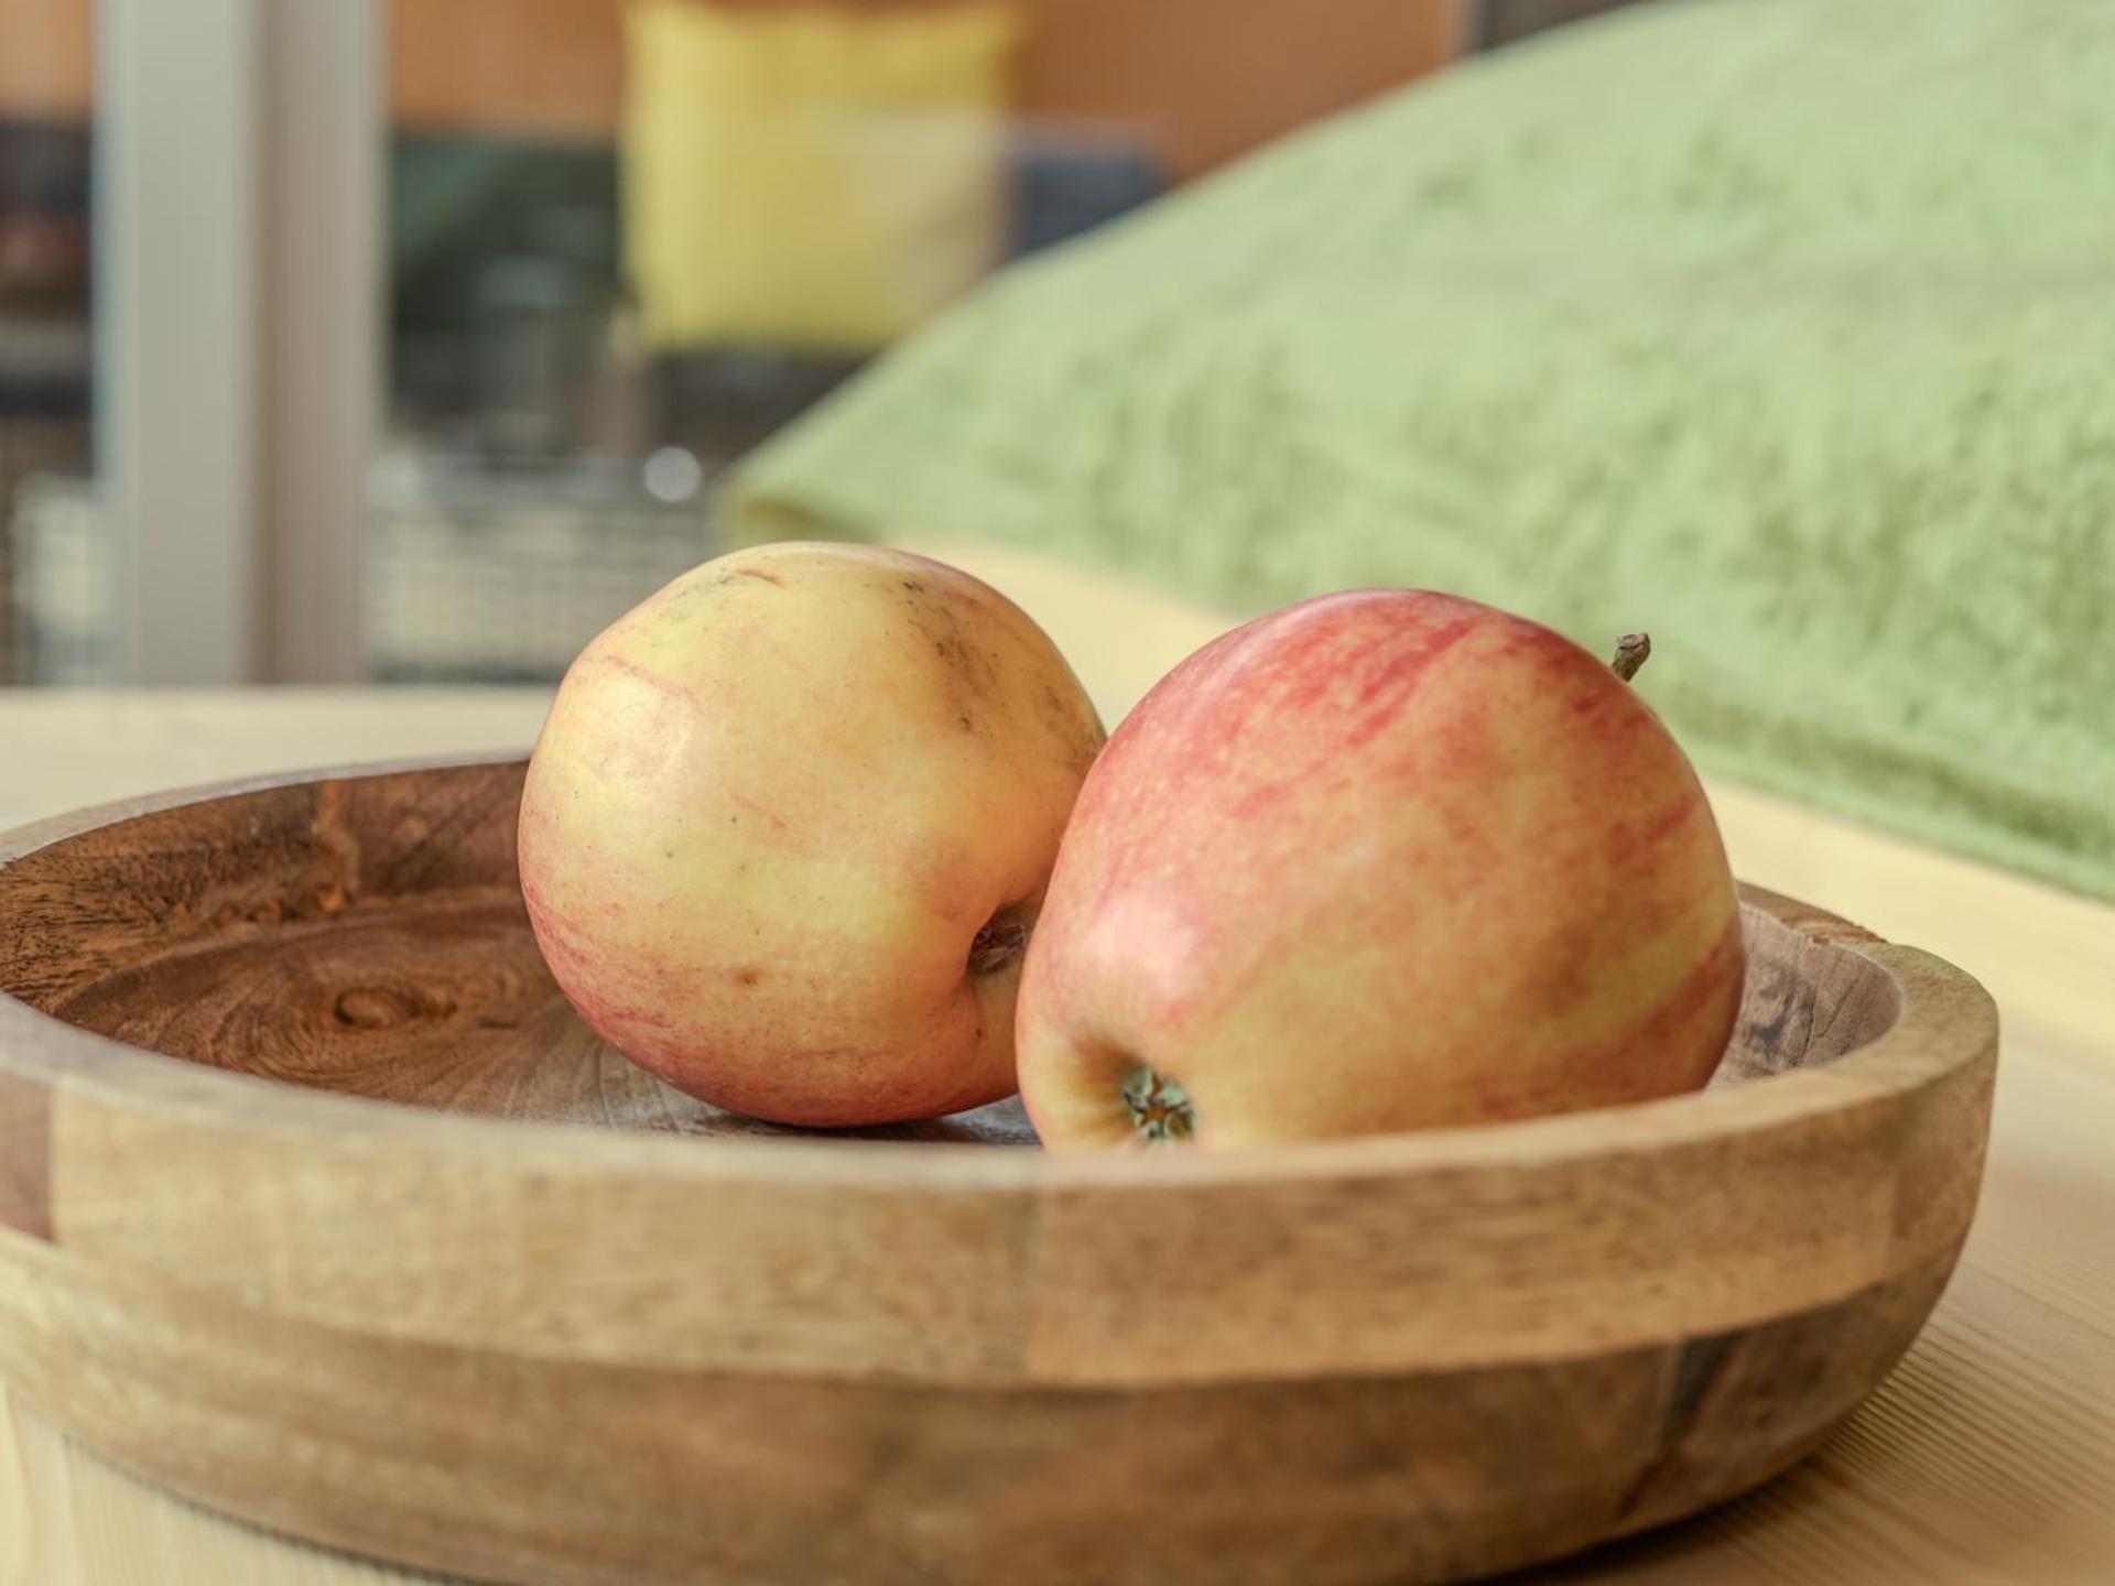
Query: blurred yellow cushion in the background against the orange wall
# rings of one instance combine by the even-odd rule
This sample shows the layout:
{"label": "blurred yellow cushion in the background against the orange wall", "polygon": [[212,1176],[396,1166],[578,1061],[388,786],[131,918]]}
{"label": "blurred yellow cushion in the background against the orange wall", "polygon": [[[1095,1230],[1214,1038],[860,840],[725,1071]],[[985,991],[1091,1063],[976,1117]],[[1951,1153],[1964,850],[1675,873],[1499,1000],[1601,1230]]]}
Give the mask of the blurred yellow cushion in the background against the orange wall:
{"label": "blurred yellow cushion in the background against the orange wall", "polygon": [[626,266],[660,351],[867,351],[1005,243],[1009,4],[628,15]]}

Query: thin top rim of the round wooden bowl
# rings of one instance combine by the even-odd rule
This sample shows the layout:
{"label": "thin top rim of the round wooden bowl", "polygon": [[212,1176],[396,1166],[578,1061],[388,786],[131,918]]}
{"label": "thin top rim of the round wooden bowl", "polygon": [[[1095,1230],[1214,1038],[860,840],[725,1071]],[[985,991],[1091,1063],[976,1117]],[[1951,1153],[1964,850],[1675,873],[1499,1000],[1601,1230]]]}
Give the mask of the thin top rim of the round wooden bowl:
{"label": "thin top rim of the round wooden bowl", "polygon": [[[328,780],[525,763],[514,751],[444,755],[228,778],[114,799],[0,833],[0,873],[34,852],[192,804]],[[1741,884],[1755,909],[1832,952],[1876,966],[1895,992],[1895,1019],[1872,1040],[1813,1068],[1732,1089],[1588,1108],[1542,1119],[1464,1125],[1229,1150],[1049,1155],[975,1142],[831,1138],[692,1138],[613,1131],[586,1123],[527,1123],[343,1095],[239,1074],[80,1030],[0,992],[0,1078],[78,1091],[104,1102],[212,1119],[260,1133],[319,1140],[393,1133],[503,1161],[539,1178],[654,1176],[700,1184],[857,1182],[869,1188],[1038,1193],[1068,1186],[1246,1184],[1275,1178],[1398,1178],[1417,1172],[1538,1165],[1624,1150],[1736,1140],[1796,1127],[1849,1104],[1906,1095],[1994,1051],[1997,1007],[1965,971],[1918,947],[1884,941],[1798,899]]]}

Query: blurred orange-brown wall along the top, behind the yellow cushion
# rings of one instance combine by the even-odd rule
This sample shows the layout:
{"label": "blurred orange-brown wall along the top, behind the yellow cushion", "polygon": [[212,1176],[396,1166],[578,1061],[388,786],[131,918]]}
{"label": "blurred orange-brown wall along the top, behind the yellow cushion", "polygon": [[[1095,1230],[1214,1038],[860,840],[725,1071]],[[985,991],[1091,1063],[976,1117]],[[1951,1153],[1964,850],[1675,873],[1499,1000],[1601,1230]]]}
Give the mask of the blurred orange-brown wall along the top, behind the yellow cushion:
{"label": "blurred orange-brown wall along the top, behind the yellow cushion", "polygon": [[[1455,51],[1457,0],[1022,2],[1034,13],[1022,110],[1146,129],[1184,173]],[[0,114],[85,114],[91,4],[0,0]],[[622,13],[624,0],[391,0],[396,116],[607,137],[624,87]]]}

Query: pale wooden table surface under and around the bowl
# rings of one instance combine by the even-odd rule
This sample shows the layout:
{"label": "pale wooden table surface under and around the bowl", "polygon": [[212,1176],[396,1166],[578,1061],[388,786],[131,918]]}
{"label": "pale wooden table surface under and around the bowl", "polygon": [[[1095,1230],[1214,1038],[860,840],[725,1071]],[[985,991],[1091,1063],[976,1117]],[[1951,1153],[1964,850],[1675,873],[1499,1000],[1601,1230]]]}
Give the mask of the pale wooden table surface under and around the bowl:
{"label": "pale wooden table surface under and around the bowl", "polygon": [[[1026,605],[1115,721],[1222,622],[1032,558],[954,556]],[[0,829],[180,782],[525,746],[533,689],[0,691]],[[1542,1582],[2115,1580],[2115,909],[1713,787],[1743,878],[1973,971],[2005,1017],[1967,1254],[1893,1379],[1813,1459]],[[421,1580],[205,1514],[104,1465],[0,1385],[0,1586]],[[1172,1584],[1178,1586],[1178,1584]]]}

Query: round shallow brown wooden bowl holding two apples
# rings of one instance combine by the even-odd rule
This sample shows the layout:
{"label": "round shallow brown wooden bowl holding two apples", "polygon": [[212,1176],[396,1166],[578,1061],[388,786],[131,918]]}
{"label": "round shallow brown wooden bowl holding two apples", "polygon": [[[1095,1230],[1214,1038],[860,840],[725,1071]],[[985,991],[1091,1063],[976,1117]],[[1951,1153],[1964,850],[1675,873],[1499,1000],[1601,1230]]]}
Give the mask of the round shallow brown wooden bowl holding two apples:
{"label": "round shallow brown wooden bowl holding two apples", "polygon": [[1007,1106],[747,1125],[556,994],[518,787],[0,842],[23,1398],[250,1520],[535,1586],[1402,1586],[1785,1468],[1975,1205],[1990,1000],[1766,892],[1703,1095],[1085,1161]]}

